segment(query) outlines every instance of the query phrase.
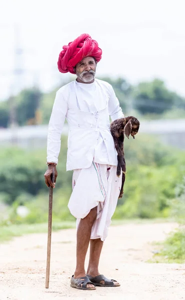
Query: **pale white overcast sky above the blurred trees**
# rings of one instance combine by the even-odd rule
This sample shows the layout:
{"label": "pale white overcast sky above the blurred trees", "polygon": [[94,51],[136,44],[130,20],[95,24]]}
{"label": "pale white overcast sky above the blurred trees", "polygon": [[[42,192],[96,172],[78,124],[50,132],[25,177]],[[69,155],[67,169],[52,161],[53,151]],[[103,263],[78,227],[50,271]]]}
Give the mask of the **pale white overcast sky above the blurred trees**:
{"label": "pale white overcast sky above the blurred trees", "polygon": [[[1,0],[0,6],[0,99],[33,81],[50,90],[66,79],[58,54],[85,32],[102,49],[97,75],[131,83],[159,77],[185,96],[184,0]],[[16,59],[15,36],[23,49]],[[13,79],[15,64],[24,69],[21,79]]]}

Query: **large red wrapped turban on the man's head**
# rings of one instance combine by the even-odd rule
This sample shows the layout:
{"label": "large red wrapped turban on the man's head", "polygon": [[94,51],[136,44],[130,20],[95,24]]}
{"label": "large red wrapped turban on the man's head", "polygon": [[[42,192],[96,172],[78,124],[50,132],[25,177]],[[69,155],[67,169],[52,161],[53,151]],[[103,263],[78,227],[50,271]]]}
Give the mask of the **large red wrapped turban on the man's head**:
{"label": "large red wrapped turban on the man's head", "polygon": [[63,46],[63,50],[58,57],[58,70],[62,73],[70,72],[75,74],[74,66],[86,56],[93,56],[96,61],[101,59],[101,49],[96,40],[90,35],[83,33],[68,45]]}

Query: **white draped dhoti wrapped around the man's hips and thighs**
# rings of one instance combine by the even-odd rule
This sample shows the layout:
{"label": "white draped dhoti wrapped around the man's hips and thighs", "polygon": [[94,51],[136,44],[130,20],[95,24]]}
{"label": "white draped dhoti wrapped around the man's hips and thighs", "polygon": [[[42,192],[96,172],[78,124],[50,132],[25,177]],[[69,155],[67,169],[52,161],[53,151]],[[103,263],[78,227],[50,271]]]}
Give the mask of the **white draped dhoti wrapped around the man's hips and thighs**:
{"label": "white draped dhoti wrapped around the man's hips and thighs", "polygon": [[70,213],[76,217],[76,228],[91,208],[97,206],[97,216],[90,238],[105,240],[108,226],[117,205],[121,188],[121,176],[116,176],[114,165],[92,162],[91,166],[74,169],[72,193],[68,202]]}

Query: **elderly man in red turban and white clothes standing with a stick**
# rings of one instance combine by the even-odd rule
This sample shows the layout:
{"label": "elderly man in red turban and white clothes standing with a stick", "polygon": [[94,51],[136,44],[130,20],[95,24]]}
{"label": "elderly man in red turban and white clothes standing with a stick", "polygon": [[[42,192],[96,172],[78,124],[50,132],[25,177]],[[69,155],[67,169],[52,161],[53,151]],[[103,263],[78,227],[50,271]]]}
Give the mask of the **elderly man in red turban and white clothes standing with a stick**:
{"label": "elderly man in red turban and white clothes standing with a stick", "polygon": [[[121,176],[116,176],[117,152],[109,130],[111,120],[123,117],[112,86],[94,78],[101,49],[88,34],[81,34],[63,46],[59,54],[60,72],[77,78],[56,92],[48,126],[45,183],[55,186],[64,120],[69,125],[66,170],[73,170],[68,208],[76,217],[76,268],[70,285],[78,289],[119,286],[98,271],[99,257],[114,213]],[[55,168],[54,183],[51,173]],[[88,268],[84,261],[90,241]]]}

